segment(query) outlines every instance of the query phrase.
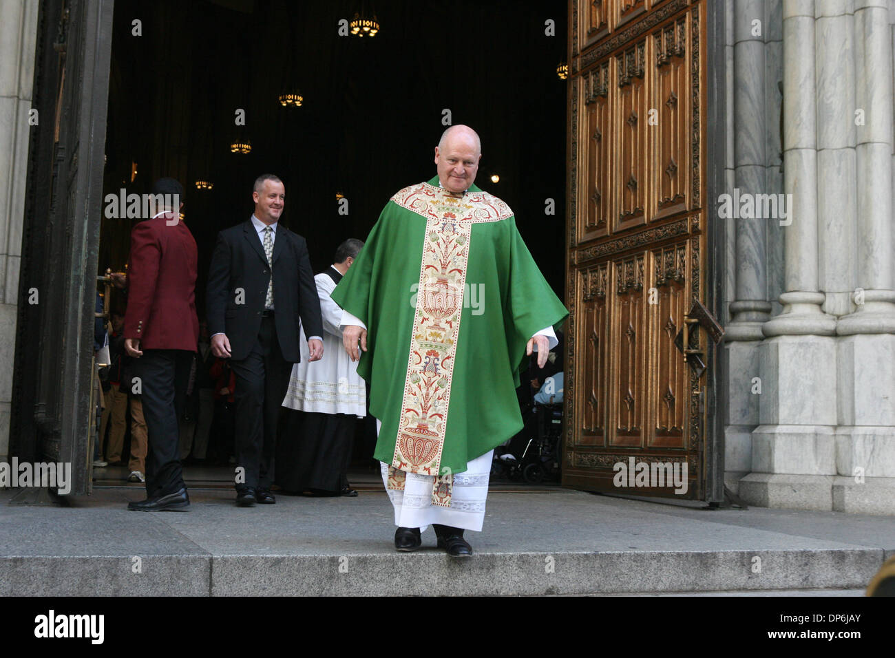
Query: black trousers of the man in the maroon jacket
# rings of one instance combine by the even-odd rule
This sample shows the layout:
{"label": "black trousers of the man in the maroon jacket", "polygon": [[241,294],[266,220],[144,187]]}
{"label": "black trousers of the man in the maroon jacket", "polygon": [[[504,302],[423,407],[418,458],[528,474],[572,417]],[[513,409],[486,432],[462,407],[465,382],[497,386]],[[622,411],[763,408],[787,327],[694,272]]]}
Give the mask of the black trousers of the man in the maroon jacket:
{"label": "black trousers of the man in the maroon jacket", "polygon": [[185,487],[180,464],[179,420],[194,353],[183,349],[147,349],[133,360],[141,378],[146,453],[146,495],[166,496]]}

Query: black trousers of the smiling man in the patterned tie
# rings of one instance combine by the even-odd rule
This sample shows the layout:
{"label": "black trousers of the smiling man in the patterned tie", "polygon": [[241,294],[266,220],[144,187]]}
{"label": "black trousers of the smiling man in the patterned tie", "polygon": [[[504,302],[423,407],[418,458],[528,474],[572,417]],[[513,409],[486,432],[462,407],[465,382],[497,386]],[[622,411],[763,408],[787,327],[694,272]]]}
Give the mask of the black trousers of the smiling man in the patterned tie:
{"label": "black trousers of the smiling man in the patterned tie", "polygon": [[242,361],[231,360],[230,367],[236,375],[236,466],[245,469],[244,482],[237,476],[236,491],[269,489],[274,481],[277,420],[292,374],[292,363],[279,348],[273,315],[261,319],[251,353]]}

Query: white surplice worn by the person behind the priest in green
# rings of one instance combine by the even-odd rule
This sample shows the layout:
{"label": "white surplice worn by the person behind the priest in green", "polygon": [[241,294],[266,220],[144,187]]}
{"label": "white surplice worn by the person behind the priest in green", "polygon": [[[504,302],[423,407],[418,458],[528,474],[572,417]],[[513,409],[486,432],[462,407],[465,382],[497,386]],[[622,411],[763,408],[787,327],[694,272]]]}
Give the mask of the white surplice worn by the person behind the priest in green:
{"label": "white surplice worn by the person behind the priest in green", "polygon": [[308,341],[299,331],[301,363],[292,367],[283,406],[316,414],[367,414],[367,390],[342,344],[342,309],[330,299],[336,284],[328,274],[314,277],[323,316],[323,358],[311,362]]}

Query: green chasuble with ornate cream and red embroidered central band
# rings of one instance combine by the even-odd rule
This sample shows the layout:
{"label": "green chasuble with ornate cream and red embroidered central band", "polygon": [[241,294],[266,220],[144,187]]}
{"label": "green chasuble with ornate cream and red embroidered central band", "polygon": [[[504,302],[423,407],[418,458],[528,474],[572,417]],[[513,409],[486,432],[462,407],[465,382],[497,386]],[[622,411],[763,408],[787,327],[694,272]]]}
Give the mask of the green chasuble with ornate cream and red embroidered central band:
{"label": "green chasuble with ornate cream and red embroidered central band", "polygon": [[474,185],[451,196],[437,176],[388,201],[332,298],[367,326],[374,457],[437,476],[522,429],[525,346],[568,314],[507,204]]}

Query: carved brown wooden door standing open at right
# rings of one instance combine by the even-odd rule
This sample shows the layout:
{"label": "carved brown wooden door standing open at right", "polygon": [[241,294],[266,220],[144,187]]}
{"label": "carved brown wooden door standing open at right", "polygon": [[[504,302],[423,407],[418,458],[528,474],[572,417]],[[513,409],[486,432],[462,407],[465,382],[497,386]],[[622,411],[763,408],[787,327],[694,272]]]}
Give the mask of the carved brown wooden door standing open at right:
{"label": "carved brown wooden door standing open at right", "polygon": [[569,3],[567,486],[703,497],[705,4]]}

